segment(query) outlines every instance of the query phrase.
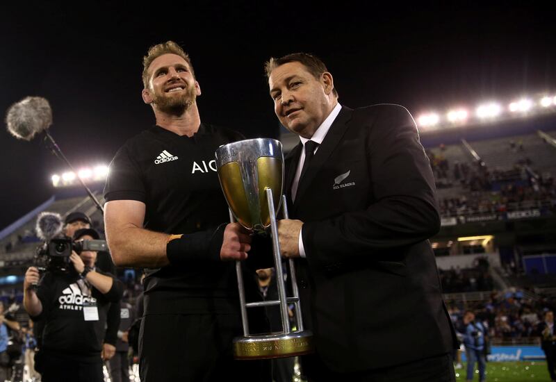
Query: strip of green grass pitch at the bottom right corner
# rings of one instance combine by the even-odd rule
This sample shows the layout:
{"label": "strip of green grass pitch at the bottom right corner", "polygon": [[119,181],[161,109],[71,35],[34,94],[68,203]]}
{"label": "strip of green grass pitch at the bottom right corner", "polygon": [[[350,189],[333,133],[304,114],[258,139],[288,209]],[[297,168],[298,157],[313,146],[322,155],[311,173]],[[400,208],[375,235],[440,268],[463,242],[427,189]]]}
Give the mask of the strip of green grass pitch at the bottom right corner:
{"label": "strip of green grass pitch at the bottom right corner", "polygon": [[[456,381],[465,381],[466,364],[456,369]],[[479,381],[479,370],[475,370],[473,381]],[[550,382],[546,362],[488,362],[486,363],[488,382]]]}

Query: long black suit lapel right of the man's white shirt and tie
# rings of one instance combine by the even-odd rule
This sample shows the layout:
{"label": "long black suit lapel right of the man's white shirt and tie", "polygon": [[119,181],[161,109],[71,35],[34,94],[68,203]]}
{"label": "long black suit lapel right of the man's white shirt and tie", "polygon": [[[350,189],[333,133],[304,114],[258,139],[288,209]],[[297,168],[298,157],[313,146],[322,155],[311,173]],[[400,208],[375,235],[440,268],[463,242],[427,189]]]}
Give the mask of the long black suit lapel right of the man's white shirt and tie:
{"label": "long black suit lapel right of the man's white shirt and tie", "polygon": [[[309,188],[309,185],[311,185],[320,167],[325,164],[330,154],[332,154],[332,151],[334,151],[334,149],[336,149],[336,146],[338,146],[338,143],[340,143],[340,140],[347,130],[347,122],[350,121],[352,113],[352,109],[343,106],[342,110],[340,110],[340,113],[338,114],[338,117],[334,119],[332,126],[330,126],[330,129],[325,136],[325,140],[323,140],[318,147],[318,150],[315,153],[315,156],[313,156],[309,167],[307,167],[303,178],[300,179],[300,183],[299,185],[297,185],[297,193],[295,194],[293,210],[295,210],[299,205],[298,201],[302,199],[303,194],[306,192],[307,188]],[[299,160],[301,149],[299,151],[300,152],[297,155],[297,160]]]}

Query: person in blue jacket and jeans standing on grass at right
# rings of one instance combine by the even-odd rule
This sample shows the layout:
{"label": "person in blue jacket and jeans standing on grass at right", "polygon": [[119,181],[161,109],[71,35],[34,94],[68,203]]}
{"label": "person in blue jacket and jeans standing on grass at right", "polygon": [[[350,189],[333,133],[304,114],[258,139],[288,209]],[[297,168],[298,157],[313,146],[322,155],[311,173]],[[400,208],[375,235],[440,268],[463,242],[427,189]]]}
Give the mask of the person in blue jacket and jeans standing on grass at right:
{"label": "person in blue jacket and jeans standing on grass at right", "polygon": [[486,358],[484,356],[484,336],[486,329],[480,322],[475,322],[475,313],[467,310],[464,313],[464,335],[465,356],[467,358],[467,381],[473,381],[475,363],[479,366],[479,381],[485,379]]}

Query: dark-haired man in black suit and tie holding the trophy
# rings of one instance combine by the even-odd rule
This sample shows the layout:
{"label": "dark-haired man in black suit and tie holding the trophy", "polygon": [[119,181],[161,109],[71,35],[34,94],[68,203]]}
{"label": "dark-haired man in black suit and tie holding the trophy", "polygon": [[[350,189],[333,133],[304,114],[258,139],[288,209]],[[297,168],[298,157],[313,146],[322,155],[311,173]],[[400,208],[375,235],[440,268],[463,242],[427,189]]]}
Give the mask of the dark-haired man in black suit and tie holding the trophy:
{"label": "dark-haired man in black suit and tie holding the trophy", "polygon": [[286,157],[296,259],[316,354],[309,381],[455,381],[455,332],[427,240],[440,228],[434,178],[414,119],[396,105],[350,109],[315,56],[265,65],[275,113],[300,135]]}

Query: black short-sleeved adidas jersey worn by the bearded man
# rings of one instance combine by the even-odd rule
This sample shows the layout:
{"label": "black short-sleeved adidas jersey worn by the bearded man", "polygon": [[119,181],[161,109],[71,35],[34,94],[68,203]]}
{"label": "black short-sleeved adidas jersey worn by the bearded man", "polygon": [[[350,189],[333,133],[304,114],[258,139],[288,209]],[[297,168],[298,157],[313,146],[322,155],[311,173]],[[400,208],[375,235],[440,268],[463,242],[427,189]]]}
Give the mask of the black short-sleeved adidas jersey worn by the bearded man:
{"label": "black short-sleeved adidas jersey worn by the bearded man", "polygon": [[[213,232],[229,222],[215,151],[241,139],[240,133],[207,124],[192,137],[149,128],[117,151],[104,197],[145,203],[144,226],[151,231]],[[145,314],[236,313],[239,307],[235,262],[215,261],[208,254],[206,260],[156,269],[145,278],[144,288]]]}

